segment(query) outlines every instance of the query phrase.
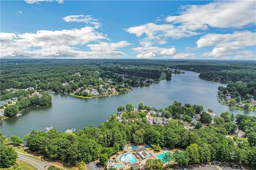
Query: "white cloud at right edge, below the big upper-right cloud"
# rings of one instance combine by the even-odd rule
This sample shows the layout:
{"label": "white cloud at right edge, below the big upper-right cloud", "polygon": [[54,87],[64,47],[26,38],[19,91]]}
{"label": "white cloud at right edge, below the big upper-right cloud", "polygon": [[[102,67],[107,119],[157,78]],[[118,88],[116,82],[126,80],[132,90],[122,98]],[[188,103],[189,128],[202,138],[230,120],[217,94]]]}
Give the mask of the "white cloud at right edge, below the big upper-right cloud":
{"label": "white cloud at right edge, below the big upper-right cloud", "polygon": [[196,41],[197,47],[214,46],[211,52],[203,56],[221,57],[233,55],[245,47],[256,46],[256,34],[251,31],[235,31],[233,33],[209,33]]}

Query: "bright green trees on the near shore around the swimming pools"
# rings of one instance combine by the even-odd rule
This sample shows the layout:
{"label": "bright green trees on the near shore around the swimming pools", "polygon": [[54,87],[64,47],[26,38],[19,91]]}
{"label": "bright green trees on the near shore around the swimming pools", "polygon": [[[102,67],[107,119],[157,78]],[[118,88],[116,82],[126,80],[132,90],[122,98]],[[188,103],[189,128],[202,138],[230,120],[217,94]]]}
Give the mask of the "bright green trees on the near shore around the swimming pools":
{"label": "bright green trees on the near shore around the swimming pools", "polygon": [[[89,127],[75,133],[55,131],[32,131],[25,136],[28,147],[43,155],[62,162],[77,164],[91,162],[100,158],[106,165],[108,158],[123,150],[126,143],[139,145],[147,143],[160,147],[181,147],[174,159],[179,165],[207,163],[212,160],[220,162],[247,164],[256,163],[256,118],[245,115],[234,115],[225,112],[220,117],[212,118],[203,111],[202,106],[181,105],[174,102],[165,109],[138,106],[134,111],[131,104],[118,107],[122,113],[122,122],[116,114],[110,116],[98,128]],[[149,111],[161,112],[163,118],[169,118],[166,124],[150,124],[146,115]],[[208,111],[212,112],[211,109]],[[201,118],[194,129],[186,129],[189,118],[199,115]],[[152,115],[155,116],[155,115]],[[236,121],[233,122],[233,121]],[[213,121],[213,122],[212,122]],[[236,135],[237,129],[245,132],[243,138]],[[229,138],[228,134],[234,135]],[[182,157],[180,157],[182,155]]]}

